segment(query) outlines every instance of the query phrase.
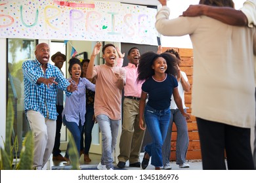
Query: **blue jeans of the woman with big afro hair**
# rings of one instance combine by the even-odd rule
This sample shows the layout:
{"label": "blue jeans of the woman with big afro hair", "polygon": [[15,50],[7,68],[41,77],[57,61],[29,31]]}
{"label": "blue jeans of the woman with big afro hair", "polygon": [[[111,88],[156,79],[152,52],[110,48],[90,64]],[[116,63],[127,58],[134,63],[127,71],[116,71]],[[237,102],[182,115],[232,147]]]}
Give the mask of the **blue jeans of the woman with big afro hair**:
{"label": "blue jeans of the woman with big afro hair", "polygon": [[146,127],[152,137],[152,143],[147,144],[144,148],[151,158],[151,164],[155,167],[162,167],[163,161],[161,156],[161,148],[167,134],[171,117],[170,108],[164,110],[156,110],[146,105],[144,110],[144,118]]}

